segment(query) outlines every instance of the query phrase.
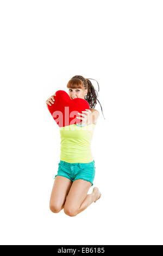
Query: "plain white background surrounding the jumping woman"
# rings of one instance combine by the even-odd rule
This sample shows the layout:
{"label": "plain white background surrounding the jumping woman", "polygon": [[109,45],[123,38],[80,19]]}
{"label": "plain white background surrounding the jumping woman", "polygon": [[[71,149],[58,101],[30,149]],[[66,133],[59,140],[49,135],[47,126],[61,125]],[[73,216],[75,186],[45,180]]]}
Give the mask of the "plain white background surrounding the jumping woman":
{"label": "plain white background surrounding the jumping woman", "polygon": [[[1,244],[163,244],[162,22],[156,0],[1,0]],[[74,75],[98,81],[105,119],[98,103],[102,196],[70,217],[49,210],[60,135],[46,100]]]}

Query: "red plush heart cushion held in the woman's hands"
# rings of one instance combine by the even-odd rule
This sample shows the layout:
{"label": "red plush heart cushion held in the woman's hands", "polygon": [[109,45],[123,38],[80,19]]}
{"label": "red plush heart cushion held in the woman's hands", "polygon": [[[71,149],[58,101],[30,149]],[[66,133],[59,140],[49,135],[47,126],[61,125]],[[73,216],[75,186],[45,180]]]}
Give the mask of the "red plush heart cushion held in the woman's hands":
{"label": "red plush heart cushion held in the woman's hands", "polygon": [[80,123],[82,120],[76,117],[82,117],[82,115],[77,113],[90,109],[89,103],[80,98],[72,100],[64,90],[58,90],[55,94],[54,104],[48,105],[48,109],[59,127]]}

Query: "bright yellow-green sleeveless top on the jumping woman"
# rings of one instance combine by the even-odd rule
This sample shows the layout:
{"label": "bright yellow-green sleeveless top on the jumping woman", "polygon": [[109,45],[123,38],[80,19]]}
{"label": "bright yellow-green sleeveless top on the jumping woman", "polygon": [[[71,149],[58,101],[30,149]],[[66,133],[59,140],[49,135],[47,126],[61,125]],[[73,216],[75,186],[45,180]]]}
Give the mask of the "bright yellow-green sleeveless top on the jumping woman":
{"label": "bright yellow-green sleeveless top on the jumping woman", "polygon": [[91,140],[94,129],[95,124],[60,127],[60,160],[68,163],[92,162]]}

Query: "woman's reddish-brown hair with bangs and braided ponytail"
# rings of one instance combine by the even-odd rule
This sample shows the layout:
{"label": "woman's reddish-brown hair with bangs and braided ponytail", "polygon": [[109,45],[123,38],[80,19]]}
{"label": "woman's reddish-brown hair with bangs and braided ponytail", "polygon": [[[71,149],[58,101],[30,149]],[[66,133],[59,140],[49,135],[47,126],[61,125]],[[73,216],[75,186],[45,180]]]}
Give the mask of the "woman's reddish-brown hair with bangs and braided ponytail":
{"label": "woman's reddish-brown hair with bangs and braided ponytail", "polygon": [[[83,76],[78,76],[78,75],[73,76],[71,78],[71,80],[68,81],[67,88],[83,89],[83,87],[84,87],[85,89],[87,89],[87,95],[85,96],[85,100],[89,103],[90,108],[95,108],[97,101],[99,102],[99,100],[97,99],[98,93],[97,93],[97,90],[93,87],[93,84],[91,83],[91,81],[89,79],[95,80],[92,78],[84,78]],[[97,82],[97,84],[98,84],[98,82]],[[99,84],[98,84],[98,92],[99,92]],[[99,105],[101,106],[100,102],[99,102]],[[101,110],[102,110],[102,106],[101,106]],[[103,114],[103,110],[102,110],[102,114]],[[104,114],[103,114],[103,117],[104,117]]]}

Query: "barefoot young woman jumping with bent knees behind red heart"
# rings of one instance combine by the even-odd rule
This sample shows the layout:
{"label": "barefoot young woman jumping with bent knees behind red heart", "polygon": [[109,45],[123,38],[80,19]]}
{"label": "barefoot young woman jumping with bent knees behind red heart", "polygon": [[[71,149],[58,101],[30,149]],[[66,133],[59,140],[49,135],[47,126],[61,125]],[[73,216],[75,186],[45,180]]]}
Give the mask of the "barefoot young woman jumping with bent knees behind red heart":
{"label": "barefoot young woman jumping with bent knees behind red heart", "polygon": [[[65,214],[69,216],[76,216],[101,197],[98,187],[87,194],[95,178],[96,167],[90,145],[99,117],[99,112],[95,109],[98,94],[89,79],[91,78],[74,76],[67,84],[70,98],[85,99],[90,109],[78,113],[77,118],[82,120],[80,123],[70,125],[68,130],[65,129],[67,126],[60,127],[60,162],[49,202],[52,212],[57,213],[64,208]],[[51,106],[54,101],[52,95],[46,104]]]}

